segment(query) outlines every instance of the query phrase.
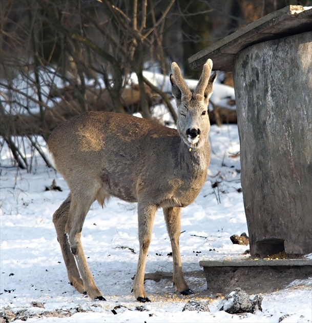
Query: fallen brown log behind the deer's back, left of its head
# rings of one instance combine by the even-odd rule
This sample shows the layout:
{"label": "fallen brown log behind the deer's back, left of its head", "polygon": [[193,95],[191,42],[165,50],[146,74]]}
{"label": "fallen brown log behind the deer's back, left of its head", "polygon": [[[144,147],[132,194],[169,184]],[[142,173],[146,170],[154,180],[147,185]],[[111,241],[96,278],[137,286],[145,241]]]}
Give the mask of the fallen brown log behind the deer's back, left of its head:
{"label": "fallen brown log behind the deer's back, left of its head", "polygon": [[[159,100],[159,95],[155,95],[147,88],[147,96],[150,104]],[[29,136],[43,135],[48,138],[50,133],[65,120],[84,112],[84,105],[81,105],[81,97],[75,95],[71,87],[54,89],[51,97],[62,97],[61,102],[53,108],[46,107],[44,114],[6,114],[0,111],[0,135],[8,136]],[[121,104],[126,113],[139,112],[140,92],[135,87],[124,88],[120,96]],[[114,111],[115,105],[107,90],[97,90],[87,88],[84,103],[89,111]]]}

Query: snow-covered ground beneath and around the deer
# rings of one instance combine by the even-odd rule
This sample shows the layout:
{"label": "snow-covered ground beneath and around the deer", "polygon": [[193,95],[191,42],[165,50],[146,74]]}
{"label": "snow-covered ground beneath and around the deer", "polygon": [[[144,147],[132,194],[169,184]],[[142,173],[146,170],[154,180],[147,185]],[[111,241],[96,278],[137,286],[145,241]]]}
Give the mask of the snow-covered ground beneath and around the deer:
{"label": "snow-covered ground beneath and around the deer", "polygon": [[[113,198],[104,210],[94,203],[88,213],[82,244],[95,282],[107,299],[93,301],[69,284],[52,223],[52,214],[69,193],[64,179],[39,157],[34,174],[1,167],[1,311],[17,313],[16,322],[311,322],[312,278],[262,294],[262,312],[233,315],[217,309],[221,297],[207,290],[199,260],[241,259],[248,257],[243,254],[248,246],[230,240],[233,234],[247,232],[237,126],[212,126],[210,141],[209,176],[196,201],[182,210],[181,219],[183,271],[195,295],[177,294],[167,276],[145,280],[152,300],[148,305],[138,303],[131,293],[139,248],[136,204]],[[1,154],[6,165],[6,150]],[[53,179],[62,192],[45,191]],[[213,188],[216,181],[219,185]],[[172,272],[170,252],[159,210],[146,272]],[[207,300],[210,312],[182,312],[192,298]]]}

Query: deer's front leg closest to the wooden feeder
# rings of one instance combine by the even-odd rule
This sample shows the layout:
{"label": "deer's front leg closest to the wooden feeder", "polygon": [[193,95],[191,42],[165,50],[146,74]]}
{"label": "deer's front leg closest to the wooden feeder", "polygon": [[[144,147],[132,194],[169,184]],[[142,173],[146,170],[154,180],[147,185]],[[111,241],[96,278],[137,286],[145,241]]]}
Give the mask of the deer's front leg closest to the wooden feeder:
{"label": "deer's front leg closest to the wooden feeder", "polygon": [[183,276],[180,257],[179,237],[181,233],[181,208],[163,208],[164,218],[169,233],[173,257],[173,283],[182,295],[194,294]]}

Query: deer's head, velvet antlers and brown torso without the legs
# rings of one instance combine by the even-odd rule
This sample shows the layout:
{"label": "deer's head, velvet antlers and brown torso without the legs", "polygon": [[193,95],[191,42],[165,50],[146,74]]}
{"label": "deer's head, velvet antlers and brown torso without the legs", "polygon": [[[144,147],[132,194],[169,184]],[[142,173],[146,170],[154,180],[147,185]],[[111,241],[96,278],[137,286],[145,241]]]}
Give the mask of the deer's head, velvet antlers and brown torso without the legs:
{"label": "deer's head, velvet antlers and brown torso without the legs", "polygon": [[206,64],[194,93],[173,63],[177,130],[112,112],[85,112],[55,129],[48,147],[71,194],[96,185],[103,201],[149,199],[158,206],[186,206],[202,188],[210,161],[207,104],[212,65]]}

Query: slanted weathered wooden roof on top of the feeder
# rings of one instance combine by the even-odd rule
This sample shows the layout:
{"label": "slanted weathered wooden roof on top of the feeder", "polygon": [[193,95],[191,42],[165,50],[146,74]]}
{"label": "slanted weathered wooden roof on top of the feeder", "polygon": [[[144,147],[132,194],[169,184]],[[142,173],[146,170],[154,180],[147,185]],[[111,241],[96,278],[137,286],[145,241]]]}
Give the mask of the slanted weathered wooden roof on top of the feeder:
{"label": "slanted weathered wooden roof on top of the feeder", "polygon": [[208,58],[214,70],[232,71],[243,49],[272,39],[312,31],[312,7],[287,6],[258,19],[189,58],[193,70],[201,70]]}

